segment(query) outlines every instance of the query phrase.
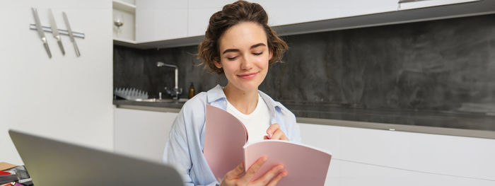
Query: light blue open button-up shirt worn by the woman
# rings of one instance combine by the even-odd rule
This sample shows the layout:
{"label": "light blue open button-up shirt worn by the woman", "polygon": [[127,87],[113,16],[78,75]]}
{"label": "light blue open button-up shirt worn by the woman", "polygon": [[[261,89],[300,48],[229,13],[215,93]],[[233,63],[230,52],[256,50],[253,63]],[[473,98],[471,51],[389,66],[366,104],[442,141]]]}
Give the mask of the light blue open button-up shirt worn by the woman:
{"label": "light blue open button-up shirt worn by the woman", "polygon": [[[271,124],[278,123],[290,141],[300,143],[301,134],[294,114],[269,95],[258,92],[267,103]],[[163,162],[175,165],[188,186],[219,184],[203,156],[206,104],[226,110],[227,98],[221,86],[187,100],[173,122],[163,152]]]}

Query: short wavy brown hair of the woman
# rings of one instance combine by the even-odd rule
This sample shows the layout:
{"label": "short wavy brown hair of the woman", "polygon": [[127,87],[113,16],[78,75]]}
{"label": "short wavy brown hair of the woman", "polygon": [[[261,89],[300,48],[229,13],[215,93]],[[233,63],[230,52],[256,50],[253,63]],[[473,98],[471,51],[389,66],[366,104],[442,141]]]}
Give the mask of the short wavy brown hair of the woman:
{"label": "short wavy brown hair of the woman", "polygon": [[[207,64],[211,72],[223,74],[223,69],[215,66],[220,62],[219,40],[228,28],[242,22],[253,22],[262,25],[267,34],[268,49],[273,53],[269,59],[269,65],[281,62],[284,52],[289,48],[286,42],[276,35],[275,31],[267,25],[268,15],[260,4],[247,1],[236,1],[233,4],[223,6],[221,11],[214,13],[209,20],[204,40],[198,46],[198,59],[201,64]],[[204,66],[206,68],[206,66]]]}

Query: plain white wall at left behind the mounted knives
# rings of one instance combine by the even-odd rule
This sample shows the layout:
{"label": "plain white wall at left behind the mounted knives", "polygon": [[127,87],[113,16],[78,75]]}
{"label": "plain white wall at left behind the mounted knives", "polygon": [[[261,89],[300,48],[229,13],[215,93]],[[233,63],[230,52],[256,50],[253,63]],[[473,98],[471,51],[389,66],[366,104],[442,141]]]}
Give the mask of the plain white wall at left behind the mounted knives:
{"label": "plain white wall at left behind the mounted knives", "polygon": [[[51,33],[47,57],[35,30],[31,7],[42,25],[50,25],[52,8],[59,29],[86,34],[77,39],[76,57],[62,36],[65,56]],[[8,129],[50,136],[112,150],[112,2],[110,0],[2,1],[0,6],[0,161],[23,164]]]}

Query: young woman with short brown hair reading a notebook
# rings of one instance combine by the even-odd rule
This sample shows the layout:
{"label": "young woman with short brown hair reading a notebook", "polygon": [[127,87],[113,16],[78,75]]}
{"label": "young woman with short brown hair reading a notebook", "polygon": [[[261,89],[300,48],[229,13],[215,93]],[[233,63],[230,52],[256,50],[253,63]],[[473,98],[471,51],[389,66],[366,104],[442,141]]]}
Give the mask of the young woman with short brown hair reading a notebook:
{"label": "young woman with short brown hair reading a notebook", "polygon": [[[237,117],[250,138],[301,141],[296,117],[269,95],[258,91],[271,64],[281,62],[287,45],[267,25],[262,6],[237,1],[211,16],[199,59],[216,74],[225,74],[227,85],[217,85],[185,103],[174,121],[163,161],[176,165],[187,185],[218,185],[203,156],[206,104]],[[243,163],[228,172],[221,185],[276,185],[288,173],[276,165],[251,180],[267,160],[260,157],[244,172]]]}

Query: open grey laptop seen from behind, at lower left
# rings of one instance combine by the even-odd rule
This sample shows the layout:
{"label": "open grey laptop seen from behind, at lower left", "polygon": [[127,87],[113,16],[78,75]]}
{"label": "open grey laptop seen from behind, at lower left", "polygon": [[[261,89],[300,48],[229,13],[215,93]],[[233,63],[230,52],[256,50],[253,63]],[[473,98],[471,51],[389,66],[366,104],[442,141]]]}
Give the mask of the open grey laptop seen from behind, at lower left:
{"label": "open grey laptop seen from behind, at lower left", "polygon": [[9,130],[35,186],[184,185],[170,165]]}

